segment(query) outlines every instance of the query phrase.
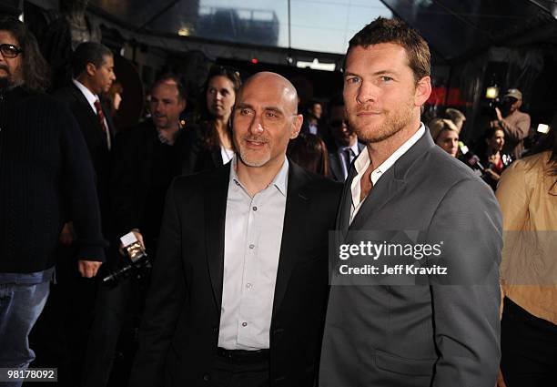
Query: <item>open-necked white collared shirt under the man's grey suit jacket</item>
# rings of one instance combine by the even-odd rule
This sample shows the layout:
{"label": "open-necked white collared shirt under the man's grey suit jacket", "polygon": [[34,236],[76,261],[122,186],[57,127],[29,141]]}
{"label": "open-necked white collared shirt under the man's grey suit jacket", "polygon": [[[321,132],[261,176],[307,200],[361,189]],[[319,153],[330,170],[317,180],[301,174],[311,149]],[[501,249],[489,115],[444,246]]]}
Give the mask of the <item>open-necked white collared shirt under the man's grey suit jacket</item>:
{"label": "open-necked white collared shirt under the man's grey suit jacket", "polygon": [[[373,171],[371,171],[371,184],[375,186],[380,177],[383,176],[383,174],[387,172],[387,170],[392,167],[394,163],[397,162],[397,160],[408,151],[408,149],[412,148],[412,146],[418,142],[418,140],[424,135],[424,133],[425,126],[423,125],[423,123],[420,123],[420,128],[416,133],[412,135],[412,137],[410,137],[404,144],[402,144],[400,148],[395,150],[393,154],[390,155],[390,157],[387,158],[385,161],[383,161],[383,163],[378,168],[375,168],[373,169]],[[350,186],[352,192],[352,205],[350,206],[350,224],[360,210],[361,203],[363,203],[363,201],[365,200],[364,198],[364,200],[360,201],[360,180],[366,169],[370,167],[370,162],[370,153],[368,152],[368,148],[363,148],[360,152],[360,156],[354,163],[354,167],[356,168],[358,174],[352,179],[352,184]]]}

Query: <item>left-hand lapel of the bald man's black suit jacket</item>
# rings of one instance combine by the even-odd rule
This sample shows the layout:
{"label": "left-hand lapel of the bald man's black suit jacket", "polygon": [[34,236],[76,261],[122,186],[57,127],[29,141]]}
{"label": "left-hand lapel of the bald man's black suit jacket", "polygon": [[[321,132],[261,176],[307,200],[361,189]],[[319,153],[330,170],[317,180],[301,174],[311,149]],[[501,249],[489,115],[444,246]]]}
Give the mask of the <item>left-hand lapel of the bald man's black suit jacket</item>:
{"label": "left-hand lapel of the bald man's black suit jacket", "polygon": [[224,273],[225,223],[227,216],[228,180],[230,164],[215,169],[205,188],[205,211],[207,214],[205,244],[211,286],[220,313],[222,305],[222,281]]}

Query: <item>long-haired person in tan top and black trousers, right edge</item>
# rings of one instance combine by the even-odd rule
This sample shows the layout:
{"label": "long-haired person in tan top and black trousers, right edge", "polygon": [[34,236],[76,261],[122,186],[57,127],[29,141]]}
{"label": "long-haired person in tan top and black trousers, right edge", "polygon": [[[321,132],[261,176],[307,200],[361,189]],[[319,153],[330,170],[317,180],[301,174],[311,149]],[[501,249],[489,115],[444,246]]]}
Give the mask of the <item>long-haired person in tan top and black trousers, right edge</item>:
{"label": "long-haired person in tan top and black trousers, right edge", "polygon": [[[557,116],[550,134],[507,168],[503,216],[500,386],[549,386],[557,368]],[[503,381],[504,380],[504,381]],[[505,384],[506,383],[506,384]]]}

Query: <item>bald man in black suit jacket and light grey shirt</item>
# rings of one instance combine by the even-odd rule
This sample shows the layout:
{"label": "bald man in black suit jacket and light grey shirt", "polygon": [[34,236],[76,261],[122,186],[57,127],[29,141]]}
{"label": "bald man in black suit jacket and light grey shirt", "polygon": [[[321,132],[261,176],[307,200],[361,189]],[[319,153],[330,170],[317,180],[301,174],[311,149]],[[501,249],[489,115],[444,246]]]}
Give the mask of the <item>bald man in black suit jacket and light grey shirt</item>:
{"label": "bald man in black suit jacket and light grey shirt", "polygon": [[169,188],[131,386],[314,386],[341,187],[286,158],[301,123],[290,82],[258,73],[232,162]]}

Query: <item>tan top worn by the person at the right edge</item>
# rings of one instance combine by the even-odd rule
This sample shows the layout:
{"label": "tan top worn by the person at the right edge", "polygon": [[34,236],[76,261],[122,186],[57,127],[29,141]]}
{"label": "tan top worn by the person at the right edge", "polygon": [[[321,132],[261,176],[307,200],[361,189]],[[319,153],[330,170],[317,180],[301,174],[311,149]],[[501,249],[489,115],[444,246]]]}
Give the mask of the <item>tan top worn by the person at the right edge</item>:
{"label": "tan top worn by the person at the right edge", "polygon": [[503,214],[501,284],[532,315],[557,324],[557,177],[551,152],[515,161],[496,191]]}

